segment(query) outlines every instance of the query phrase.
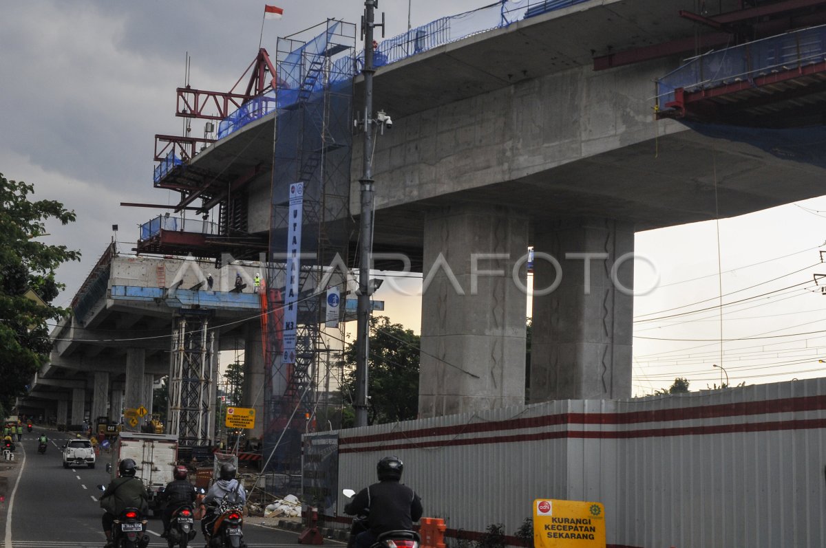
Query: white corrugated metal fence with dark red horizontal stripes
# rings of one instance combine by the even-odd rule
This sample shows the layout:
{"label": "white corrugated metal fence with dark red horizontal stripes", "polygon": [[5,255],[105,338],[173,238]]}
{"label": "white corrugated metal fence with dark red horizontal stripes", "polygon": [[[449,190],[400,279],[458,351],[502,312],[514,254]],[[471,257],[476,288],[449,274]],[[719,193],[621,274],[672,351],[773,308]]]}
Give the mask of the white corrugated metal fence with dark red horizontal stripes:
{"label": "white corrugated metal fence with dark red horizontal stripes", "polygon": [[338,508],[393,454],[449,536],[513,535],[534,498],[564,498],[605,504],[609,546],[826,546],[824,432],[826,379],[354,428]]}

